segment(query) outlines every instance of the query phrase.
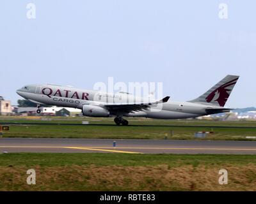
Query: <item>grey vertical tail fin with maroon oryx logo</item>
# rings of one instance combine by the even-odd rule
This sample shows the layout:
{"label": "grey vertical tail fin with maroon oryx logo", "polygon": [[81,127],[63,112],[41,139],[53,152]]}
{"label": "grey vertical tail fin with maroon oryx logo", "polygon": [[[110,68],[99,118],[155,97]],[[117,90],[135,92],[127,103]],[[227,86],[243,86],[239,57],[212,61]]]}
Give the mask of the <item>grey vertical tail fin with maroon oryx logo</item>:
{"label": "grey vertical tail fin with maroon oryx logo", "polygon": [[227,75],[223,78],[218,84],[214,85],[207,92],[202,94],[196,99],[193,99],[188,102],[192,103],[209,103],[210,105],[215,106],[225,106],[232,89],[236,85],[239,76]]}

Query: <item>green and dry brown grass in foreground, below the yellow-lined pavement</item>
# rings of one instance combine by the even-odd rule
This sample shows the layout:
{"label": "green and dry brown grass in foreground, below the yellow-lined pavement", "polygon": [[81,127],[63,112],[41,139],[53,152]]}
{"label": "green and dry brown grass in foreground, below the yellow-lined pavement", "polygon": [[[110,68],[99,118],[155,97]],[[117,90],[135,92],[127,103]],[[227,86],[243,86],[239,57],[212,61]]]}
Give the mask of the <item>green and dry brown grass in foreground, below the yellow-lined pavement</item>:
{"label": "green and dry brown grass in foreground, below the yellow-lined pavement", "polygon": [[256,191],[256,156],[0,154],[0,180],[0,191]]}

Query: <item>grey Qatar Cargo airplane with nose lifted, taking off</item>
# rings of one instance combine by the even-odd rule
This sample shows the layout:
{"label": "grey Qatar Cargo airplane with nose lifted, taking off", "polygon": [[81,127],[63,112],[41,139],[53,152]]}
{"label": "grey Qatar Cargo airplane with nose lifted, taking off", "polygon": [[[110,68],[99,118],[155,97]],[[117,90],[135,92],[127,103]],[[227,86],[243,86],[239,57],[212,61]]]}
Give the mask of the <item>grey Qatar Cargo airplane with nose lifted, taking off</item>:
{"label": "grey Qatar Cargo airplane with nose lifted, taking off", "polygon": [[[147,117],[152,119],[186,119],[230,112],[225,108],[239,76],[227,75],[207,92],[190,101],[170,101],[170,96],[150,101],[125,92],[99,92],[52,84],[25,85],[17,94],[40,105],[56,105],[79,108],[87,117],[115,117],[116,125],[128,125],[124,117]],[[132,102],[131,102],[132,101]]]}

